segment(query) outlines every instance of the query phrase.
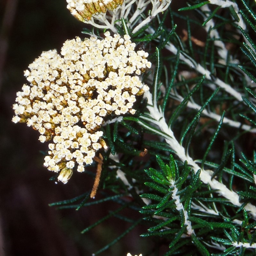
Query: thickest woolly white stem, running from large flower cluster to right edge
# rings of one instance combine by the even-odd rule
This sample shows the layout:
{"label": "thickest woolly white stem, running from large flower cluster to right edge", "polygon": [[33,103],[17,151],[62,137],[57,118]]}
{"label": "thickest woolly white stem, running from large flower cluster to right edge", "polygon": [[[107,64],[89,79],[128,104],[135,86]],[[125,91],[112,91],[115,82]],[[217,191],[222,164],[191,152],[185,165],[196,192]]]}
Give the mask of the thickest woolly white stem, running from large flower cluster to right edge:
{"label": "thickest woolly white stem, running from large flower cluster to right edge", "polygon": [[[216,193],[221,196],[227,198],[230,203],[240,207],[241,203],[239,202],[239,196],[236,192],[229,190],[223,183],[220,183],[216,179],[212,179],[212,171],[202,169],[196,162],[185,152],[185,148],[183,148],[178,140],[174,137],[174,134],[170,127],[165,122],[164,115],[162,111],[158,109],[156,106],[153,106],[152,102],[152,94],[150,92],[145,92],[144,97],[148,100],[148,111],[149,116],[151,117],[151,122],[156,124],[158,128],[162,131],[162,136],[164,137],[166,143],[176,152],[176,155],[180,158],[182,162],[187,161],[188,165],[196,172],[201,169],[200,180],[204,184],[209,184],[212,189],[216,189]],[[149,118],[141,117],[145,120],[150,120]],[[144,127],[148,128],[147,124],[144,122],[139,122]],[[160,134],[160,132],[159,132]],[[256,207],[252,204],[245,205],[244,209],[252,214],[254,218],[256,218]]]}

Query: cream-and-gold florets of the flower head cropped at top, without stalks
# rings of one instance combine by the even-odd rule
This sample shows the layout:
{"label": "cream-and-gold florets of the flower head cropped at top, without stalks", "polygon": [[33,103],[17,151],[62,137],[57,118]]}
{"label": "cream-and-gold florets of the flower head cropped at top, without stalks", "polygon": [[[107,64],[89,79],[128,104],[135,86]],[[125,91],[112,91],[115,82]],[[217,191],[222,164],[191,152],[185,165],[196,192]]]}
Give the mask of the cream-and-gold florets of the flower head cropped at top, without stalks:
{"label": "cream-and-gold florets of the flower head cropped at top, without stalks", "polygon": [[67,8],[73,16],[84,22],[99,13],[115,10],[123,2],[124,0],[67,0]]}

